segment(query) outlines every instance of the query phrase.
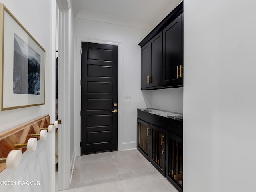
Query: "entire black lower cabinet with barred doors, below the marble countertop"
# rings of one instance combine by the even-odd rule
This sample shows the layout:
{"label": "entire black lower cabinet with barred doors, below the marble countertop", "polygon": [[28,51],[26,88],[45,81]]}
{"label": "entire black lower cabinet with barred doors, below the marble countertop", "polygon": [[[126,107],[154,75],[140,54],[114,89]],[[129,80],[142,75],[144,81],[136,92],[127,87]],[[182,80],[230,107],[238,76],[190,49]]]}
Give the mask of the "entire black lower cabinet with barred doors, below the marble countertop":
{"label": "entire black lower cabinet with barred doors, below the marble countertop", "polygon": [[137,149],[182,192],[182,121],[138,110]]}

